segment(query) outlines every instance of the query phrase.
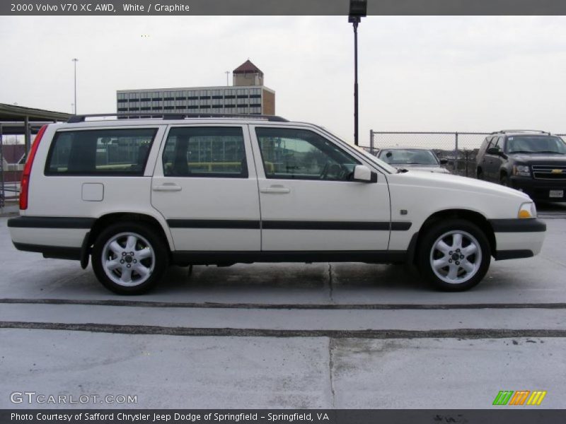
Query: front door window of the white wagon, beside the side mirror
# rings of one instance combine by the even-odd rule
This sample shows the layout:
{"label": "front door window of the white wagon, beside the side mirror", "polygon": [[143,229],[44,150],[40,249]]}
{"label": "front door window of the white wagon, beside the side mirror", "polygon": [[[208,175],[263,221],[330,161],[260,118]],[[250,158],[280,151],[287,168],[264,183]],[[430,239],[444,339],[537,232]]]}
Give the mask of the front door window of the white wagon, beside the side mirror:
{"label": "front door window of the white wagon, beside the side mirror", "polygon": [[256,128],[265,177],[348,181],[359,162],[306,129]]}

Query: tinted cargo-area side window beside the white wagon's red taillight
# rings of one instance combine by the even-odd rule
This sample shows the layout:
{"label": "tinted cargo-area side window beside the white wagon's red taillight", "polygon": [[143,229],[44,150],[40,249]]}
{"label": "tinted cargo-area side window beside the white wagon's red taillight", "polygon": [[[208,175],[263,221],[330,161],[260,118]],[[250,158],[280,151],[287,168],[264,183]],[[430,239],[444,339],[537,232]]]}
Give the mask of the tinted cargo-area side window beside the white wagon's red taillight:
{"label": "tinted cargo-area side window beside the white wagon's red taillight", "polygon": [[58,131],[45,175],[144,175],[157,129]]}

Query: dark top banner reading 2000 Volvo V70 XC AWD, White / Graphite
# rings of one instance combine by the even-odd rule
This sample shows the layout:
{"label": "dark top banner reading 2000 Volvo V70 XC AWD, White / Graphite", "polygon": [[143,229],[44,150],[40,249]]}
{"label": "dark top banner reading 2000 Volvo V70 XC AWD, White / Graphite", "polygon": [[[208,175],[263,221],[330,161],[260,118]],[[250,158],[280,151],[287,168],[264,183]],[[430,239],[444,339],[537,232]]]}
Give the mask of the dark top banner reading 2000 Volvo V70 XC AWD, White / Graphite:
{"label": "dark top banner reading 2000 Volvo V70 XC AWD, White / Graphite", "polygon": [[[350,0],[3,0],[7,16],[347,16]],[[564,0],[368,0],[368,15],[566,15]]]}

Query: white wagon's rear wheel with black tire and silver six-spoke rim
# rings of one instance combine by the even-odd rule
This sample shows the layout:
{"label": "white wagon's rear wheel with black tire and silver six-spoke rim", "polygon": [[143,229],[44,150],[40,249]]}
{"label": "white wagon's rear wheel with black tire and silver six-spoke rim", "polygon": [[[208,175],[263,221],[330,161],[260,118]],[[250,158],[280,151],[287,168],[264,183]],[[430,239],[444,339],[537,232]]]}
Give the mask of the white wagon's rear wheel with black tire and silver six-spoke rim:
{"label": "white wagon's rear wheel with black tire and silver six-spoke rim", "polygon": [[96,278],[105,288],[120,295],[140,295],[163,278],[168,250],[151,225],[116,223],[96,238],[92,261]]}

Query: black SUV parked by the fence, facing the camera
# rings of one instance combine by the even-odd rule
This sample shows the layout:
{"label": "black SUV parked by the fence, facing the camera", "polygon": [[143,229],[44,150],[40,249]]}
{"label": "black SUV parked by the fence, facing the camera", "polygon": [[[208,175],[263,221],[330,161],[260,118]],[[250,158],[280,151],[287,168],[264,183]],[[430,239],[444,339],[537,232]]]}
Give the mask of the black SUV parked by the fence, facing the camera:
{"label": "black SUV parked by the fence, facing the camera", "polygon": [[544,131],[502,130],[485,138],[478,179],[499,182],[533,200],[566,201],[566,143]]}

